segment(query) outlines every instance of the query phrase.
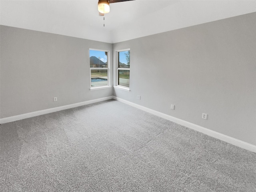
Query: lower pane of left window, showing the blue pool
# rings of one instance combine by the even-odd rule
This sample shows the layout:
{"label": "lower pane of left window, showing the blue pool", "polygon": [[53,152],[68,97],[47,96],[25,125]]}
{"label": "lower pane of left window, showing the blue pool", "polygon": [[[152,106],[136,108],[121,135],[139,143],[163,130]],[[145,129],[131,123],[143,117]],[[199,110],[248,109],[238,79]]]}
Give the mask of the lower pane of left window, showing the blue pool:
{"label": "lower pane of left window, showing the blue pool", "polygon": [[108,85],[108,70],[91,70],[91,86]]}

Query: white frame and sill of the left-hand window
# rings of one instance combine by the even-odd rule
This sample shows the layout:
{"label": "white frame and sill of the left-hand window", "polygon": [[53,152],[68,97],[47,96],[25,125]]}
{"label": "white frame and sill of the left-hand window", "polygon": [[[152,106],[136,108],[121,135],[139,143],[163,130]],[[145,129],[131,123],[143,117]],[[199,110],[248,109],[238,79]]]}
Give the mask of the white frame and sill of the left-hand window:
{"label": "white frame and sill of the left-hand window", "polygon": [[[101,67],[101,68],[94,68],[94,67],[90,67],[90,50],[94,50],[94,51],[103,51],[103,52],[108,52],[108,67]],[[111,88],[111,78],[110,78],[110,51],[109,50],[101,50],[101,49],[93,49],[93,48],[89,48],[89,67],[90,67],[90,90],[99,90],[99,89],[105,89],[105,88]],[[108,70],[108,84],[104,85],[104,86],[92,86],[92,77],[91,77],[91,70]]]}

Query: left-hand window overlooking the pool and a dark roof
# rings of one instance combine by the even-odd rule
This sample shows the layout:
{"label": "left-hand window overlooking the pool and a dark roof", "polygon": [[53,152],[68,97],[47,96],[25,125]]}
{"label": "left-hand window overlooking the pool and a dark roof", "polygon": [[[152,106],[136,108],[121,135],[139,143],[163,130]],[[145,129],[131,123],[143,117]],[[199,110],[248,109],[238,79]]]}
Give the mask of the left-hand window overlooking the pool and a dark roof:
{"label": "left-hand window overlooking the pool and a dark roof", "polygon": [[91,88],[109,85],[109,51],[89,50]]}

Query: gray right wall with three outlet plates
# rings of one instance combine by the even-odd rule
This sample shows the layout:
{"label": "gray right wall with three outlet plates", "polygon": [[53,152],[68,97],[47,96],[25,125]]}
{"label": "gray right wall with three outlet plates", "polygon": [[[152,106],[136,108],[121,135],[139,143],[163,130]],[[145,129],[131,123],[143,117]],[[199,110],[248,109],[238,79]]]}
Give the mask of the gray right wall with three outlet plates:
{"label": "gray right wall with three outlet plates", "polygon": [[114,96],[256,145],[256,13],[113,45],[126,48],[131,92]]}

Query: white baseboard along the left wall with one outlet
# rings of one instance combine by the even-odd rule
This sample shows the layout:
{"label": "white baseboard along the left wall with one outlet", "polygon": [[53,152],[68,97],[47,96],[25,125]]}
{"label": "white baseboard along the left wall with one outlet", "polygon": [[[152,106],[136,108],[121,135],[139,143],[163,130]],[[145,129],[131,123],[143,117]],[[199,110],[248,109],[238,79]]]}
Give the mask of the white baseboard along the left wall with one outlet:
{"label": "white baseboard along the left wall with one outlet", "polygon": [[88,105],[88,104],[101,102],[101,101],[105,101],[105,100],[109,100],[109,99],[113,99],[113,96],[84,101],[84,102],[80,102],[80,103],[74,103],[74,104],[60,106],[60,107],[54,107],[54,108],[50,108],[50,109],[25,113],[25,114],[11,116],[11,117],[6,117],[6,118],[0,119],[0,124],[13,122],[13,121],[21,120],[21,119],[26,119],[26,118],[30,118],[30,117],[34,117],[34,116],[44,115],[44,114],[57,112],[57,111],[65,110],[65,109],[70,109],[70,108],[74,108],[74,107],[79,107],[79,106],[83,106],[83,105]]}

